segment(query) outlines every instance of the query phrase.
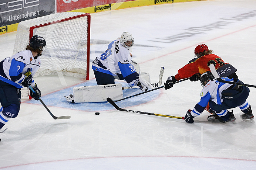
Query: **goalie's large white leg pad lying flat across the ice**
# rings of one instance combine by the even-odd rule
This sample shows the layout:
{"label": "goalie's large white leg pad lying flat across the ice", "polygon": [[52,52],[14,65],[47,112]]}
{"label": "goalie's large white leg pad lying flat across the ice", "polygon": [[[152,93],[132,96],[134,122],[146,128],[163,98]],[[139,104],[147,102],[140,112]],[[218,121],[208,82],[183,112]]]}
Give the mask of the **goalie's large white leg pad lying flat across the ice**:
{"label": "goalie's large white leg pad lying flat across the ice", "polygon": [[123,98],[122,84],[74,87],[73,95],[74,103],[105,102],[107,97],[119,100]]}

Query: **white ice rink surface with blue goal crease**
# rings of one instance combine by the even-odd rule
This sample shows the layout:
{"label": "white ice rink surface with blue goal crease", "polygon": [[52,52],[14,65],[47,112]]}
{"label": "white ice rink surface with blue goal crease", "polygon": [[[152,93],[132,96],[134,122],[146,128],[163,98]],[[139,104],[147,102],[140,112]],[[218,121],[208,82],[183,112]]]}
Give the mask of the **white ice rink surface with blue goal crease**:
{"label": "white ice rink surface with blue goal crease", "polygon": [[[255,85],[255,7],[256,1],[193,1],[91,14],[90,59],[128,31],[134,37],[134,60],[152,82],[158,81],[161,66],[165,81],[194,57],[196,45],[206,44],[238,69],[244,83]],[[15,36],[0,35],[0,59],[12,55]],[[255,124],[242,121],[239,108],[233,109],[237,124],[208,122],[207,112],[188,124],[117,111],[106,103],[67,103],[64,94],[74,86],[95,83],[93,72],[90,81],[58,76],[35,81],[51,112],[71,119],[54,120],[39,102],[23,101],[18,117],[0,133],[0,169],[256,169]],[[198,81],[183,81],[117,105],[184,117],[200,100],[201,89]],[[253,112],[255,93],[250,88],[247,99]]]}

